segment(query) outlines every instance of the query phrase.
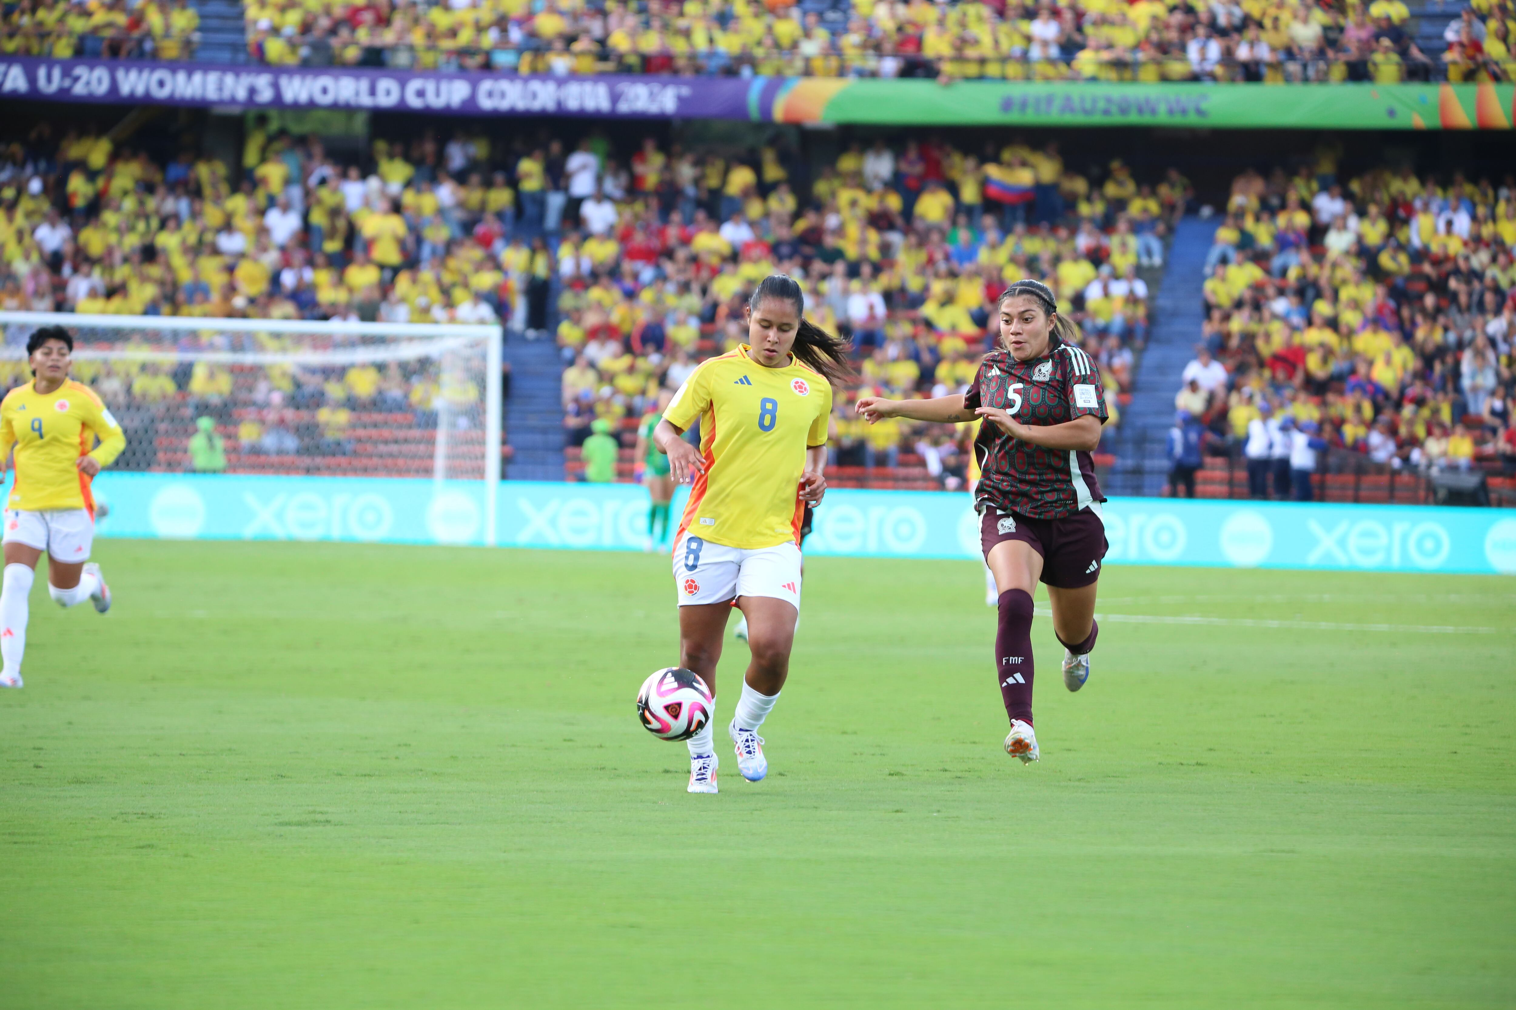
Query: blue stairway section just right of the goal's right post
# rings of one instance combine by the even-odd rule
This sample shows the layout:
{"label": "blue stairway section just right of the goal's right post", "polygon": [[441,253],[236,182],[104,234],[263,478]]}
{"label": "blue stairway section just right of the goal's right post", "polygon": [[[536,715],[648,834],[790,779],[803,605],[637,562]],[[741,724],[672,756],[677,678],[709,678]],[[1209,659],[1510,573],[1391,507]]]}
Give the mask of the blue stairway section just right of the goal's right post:
{"label": "blue stairway section just right of the goal's right post", "polygon": [[511,365],[511,395],[505,401],[509,480],[564,479],[562,360],[550,339],[526,341],[511,333],[505,342]]}

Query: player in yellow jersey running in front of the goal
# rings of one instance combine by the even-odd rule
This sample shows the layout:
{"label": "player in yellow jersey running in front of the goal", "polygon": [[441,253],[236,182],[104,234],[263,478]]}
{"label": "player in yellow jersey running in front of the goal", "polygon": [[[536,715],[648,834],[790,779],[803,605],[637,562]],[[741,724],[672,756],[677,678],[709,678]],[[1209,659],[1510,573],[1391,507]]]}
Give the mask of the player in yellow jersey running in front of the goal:
{"label": "player in yellow jersey running in front of the goal", "polygon": [[[0,589],[0,687],[21,686],[27,595],[47,551],[47,592],[59,606],[85,600],[111,609],[111,589],[91,565],[94,497],[89,482],[126,448],[126,435],[88,386],[68,377],[74,339],[61,326],[26,342],[32,382],[0,401],[0,475],[15,448],[15,482],[5,513]],[[99,441],[99,445],[96,442]]]}

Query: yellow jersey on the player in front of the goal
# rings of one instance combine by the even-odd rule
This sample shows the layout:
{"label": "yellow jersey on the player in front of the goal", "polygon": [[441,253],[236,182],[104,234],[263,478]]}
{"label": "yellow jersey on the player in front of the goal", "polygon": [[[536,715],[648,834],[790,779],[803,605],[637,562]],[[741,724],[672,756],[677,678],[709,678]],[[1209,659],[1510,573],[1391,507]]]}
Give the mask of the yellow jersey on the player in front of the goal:
{"label": "yellow jersey on the player in front of the goal", "polygon": [[15,482],[9,507],[86,509],[94,515],[89,477],[79,471],[79,457],[89,453],[109,466],[126,448],[126,433],[89,386],[70,379],[56,391],[39,394],[29,382],[0,401],[0,459],[9,457],[12,447]]}

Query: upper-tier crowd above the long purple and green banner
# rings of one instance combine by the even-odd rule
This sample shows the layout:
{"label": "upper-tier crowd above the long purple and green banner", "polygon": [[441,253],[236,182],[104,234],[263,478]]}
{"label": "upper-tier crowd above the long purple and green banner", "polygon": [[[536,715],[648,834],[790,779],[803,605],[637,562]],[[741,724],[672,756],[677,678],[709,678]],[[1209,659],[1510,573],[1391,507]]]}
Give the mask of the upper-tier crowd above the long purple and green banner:
{"label": "upper-tier crowd above the long purple and green banner", "polygon": [[[3,50],[179,59],[188,0],[21,0]],[[1402,0],[247,0],[273,65],[494,73],[790,74],[1004,80],[1510,80],[1510,0],[1454,18],[1422,51]]]}

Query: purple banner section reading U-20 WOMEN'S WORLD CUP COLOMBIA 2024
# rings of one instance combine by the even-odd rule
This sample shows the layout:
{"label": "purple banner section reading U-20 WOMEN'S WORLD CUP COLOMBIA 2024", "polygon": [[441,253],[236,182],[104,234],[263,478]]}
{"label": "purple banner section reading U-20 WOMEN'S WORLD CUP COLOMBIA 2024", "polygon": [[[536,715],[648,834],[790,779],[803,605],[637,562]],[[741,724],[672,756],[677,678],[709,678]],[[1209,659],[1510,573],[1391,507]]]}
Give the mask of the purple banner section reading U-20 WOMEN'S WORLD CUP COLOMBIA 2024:
{"label": "purple banner section reading U-20 WOMEN'S WORLD CUP COLOMBIA 2024", "polygon": [[764,80],[734,77],[550,77],[493,73],[218,67],[109,59],[0,61],[0,100],[105,104],[377,109],[461,115],[747,120]]}

